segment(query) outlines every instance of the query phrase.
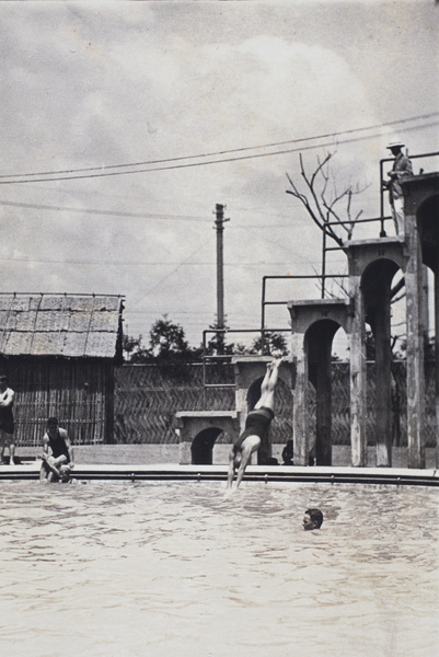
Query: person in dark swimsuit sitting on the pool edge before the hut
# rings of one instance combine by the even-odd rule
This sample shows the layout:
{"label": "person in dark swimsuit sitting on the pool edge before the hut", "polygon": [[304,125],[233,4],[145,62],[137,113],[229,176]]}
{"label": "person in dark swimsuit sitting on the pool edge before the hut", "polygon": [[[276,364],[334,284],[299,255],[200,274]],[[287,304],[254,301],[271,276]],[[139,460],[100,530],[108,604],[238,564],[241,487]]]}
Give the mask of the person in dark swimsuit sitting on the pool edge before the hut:
{"label": "person in dark swimsuit sitting on the pool edge before the hut", "polygon": [[39,481],[70,481],[74,468],[73,449],[66,429],[58,426],[56,417],[47,420],[47,431],[43,436],[43,463],[39,470]]}

